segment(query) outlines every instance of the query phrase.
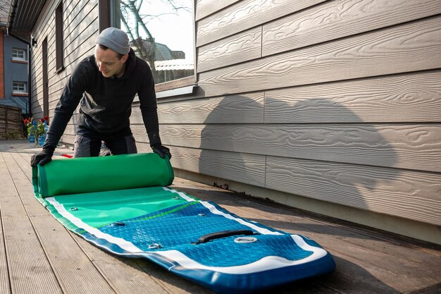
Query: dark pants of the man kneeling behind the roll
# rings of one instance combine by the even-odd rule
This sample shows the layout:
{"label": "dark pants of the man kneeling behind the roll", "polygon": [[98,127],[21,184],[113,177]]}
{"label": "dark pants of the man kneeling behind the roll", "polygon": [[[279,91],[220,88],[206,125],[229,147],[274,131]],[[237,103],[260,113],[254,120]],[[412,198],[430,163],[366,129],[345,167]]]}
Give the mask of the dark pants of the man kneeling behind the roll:
{"label": "dark pants of the man kneeling behind the roll", "polygon": [[[91,139],[82,135],[75,137],[73,157],[97,157],[101,149],[101,139]],[[137,153],[135,138],[130,135],[104,141],[112,155]]]}

